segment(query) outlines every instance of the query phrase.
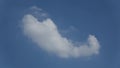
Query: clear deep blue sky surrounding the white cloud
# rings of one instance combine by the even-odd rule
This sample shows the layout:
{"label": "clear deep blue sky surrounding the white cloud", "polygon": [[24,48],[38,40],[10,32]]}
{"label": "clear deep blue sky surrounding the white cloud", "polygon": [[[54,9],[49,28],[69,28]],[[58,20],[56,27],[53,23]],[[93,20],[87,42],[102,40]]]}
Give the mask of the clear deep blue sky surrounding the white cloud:
{"label": "clear deep blue sky surrounding the white cloud", "polygon": [[[119,0],[0,0],[0,67],[119,68],[119,3]],[[61,34],[73,41],[85,42],[89,34],[95,35],[100,43],[99,54],[66,59],[39,48],[21,29],[21,21],[32,6],[45,10]]]}

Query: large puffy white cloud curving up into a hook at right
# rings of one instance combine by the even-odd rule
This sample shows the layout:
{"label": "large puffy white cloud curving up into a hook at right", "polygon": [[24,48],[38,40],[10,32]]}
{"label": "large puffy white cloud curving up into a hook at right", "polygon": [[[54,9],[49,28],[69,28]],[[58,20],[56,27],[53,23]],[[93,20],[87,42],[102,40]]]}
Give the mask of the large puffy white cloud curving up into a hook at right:
{"label": "large puffy white cloud curving up into a hook at right", "polygon": [[23,31],[41,49],[62,58],[92,56],[99,53],[100,45],[95,36],[89,35],[85,44],[76,46],[59,33],[57,26],[50,18],[38,21],[33,15],[25,15]]}

